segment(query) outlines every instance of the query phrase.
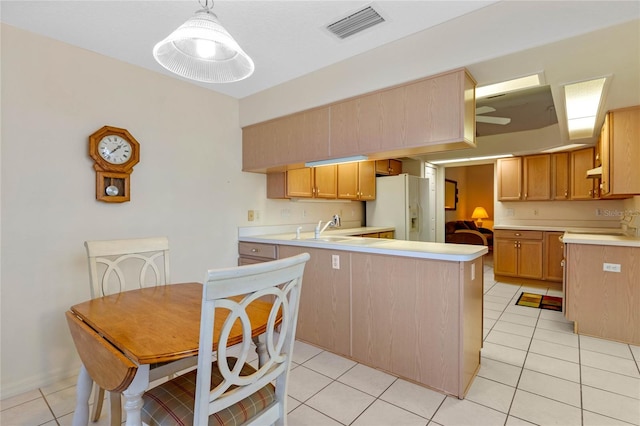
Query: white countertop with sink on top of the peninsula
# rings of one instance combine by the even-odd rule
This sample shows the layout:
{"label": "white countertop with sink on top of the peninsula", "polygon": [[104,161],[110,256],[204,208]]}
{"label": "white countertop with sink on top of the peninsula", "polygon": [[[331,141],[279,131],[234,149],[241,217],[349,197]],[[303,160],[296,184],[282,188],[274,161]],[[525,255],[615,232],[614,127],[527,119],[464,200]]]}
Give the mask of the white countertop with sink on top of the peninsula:
{"label": "white countertop with sink on top of the peninsula", "polygon": [[335,238],[340,241],[313,240],[313,232],[302,232],[297,240],[295,232],[271,235],[240,236],[240,241],[266,244],[344,250],[390,256],[415,257],[421,259],[466,262],[488,252],[486,246],[467,244],[427,243],[422,241],[391,240],[386,238],[362,238],[348,235],[390,231],[393,228],[362,227],[325,231],[320,238]]}

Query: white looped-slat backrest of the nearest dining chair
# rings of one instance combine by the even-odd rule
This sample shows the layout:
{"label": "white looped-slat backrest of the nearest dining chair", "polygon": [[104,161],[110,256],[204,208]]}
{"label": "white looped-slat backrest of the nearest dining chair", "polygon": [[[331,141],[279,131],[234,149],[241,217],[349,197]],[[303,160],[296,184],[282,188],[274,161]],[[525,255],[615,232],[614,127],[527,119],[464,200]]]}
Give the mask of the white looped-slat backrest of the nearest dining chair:
{"label": "white looped-slat backrest of the nearest dining chair", "polygon": [[[207,424],[211,414],[241,401],[273,381],[276,382],[276,388],[286,387],[298,319],[302,274],[308,259],[309,255],[303,253],[271,262],[207,272],[203,286],[194,424]],[[236,296],[241,298],[238,300]],[[264,337],[266,357],[255,373],[242,376],[242,366],[251,350],[252,327],[246,308],[265,296],[273,300]],[[210,348],[214,340],[216,308],[218,312],[228,311],[228,316],[217,336],[217,366],[223,380],[211,389],[213,356]],[[280,316],[282,320],[278,329]],[[233,361],[228,355],[226,342],[232,327],[238,323],[242,326],[244,338],[233,354],[237,362],[230,367]],[[286,389],[276,394],[284,397],[280,397],[272,408],[286,413]]]}

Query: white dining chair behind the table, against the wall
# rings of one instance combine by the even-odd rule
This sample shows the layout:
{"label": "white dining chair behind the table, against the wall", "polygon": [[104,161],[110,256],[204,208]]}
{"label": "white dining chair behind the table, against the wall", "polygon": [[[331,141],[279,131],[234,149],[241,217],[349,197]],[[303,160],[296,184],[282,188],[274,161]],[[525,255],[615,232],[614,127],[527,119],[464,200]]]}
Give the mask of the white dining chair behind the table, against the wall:
{"label": "white dining chair behind the table, against the wall", "polygon": [[[85,241],[89,261],[91,298],[108,296],[141,287],[165,285],[170,282],[169,240],[166,237],[126,240]],[[171,377],[176,372],[193,367],[196,358],[151,366],[149,380]],[[91,421],[97,422],[102,412],[104,389],[95,385]],[[121,395],[110,392],[111,425],[122,419]]]}

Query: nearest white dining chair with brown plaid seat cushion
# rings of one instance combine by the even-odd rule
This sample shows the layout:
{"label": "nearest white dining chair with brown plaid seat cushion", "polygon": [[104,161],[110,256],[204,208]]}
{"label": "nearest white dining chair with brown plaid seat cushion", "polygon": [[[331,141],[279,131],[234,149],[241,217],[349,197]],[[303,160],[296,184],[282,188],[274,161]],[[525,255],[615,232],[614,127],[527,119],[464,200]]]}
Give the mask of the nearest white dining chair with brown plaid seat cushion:
{"label": "nearest white dining chair with brown plaid seat cushion", "polygon": [[[203,288],[198,368],[143,396],[142,421],[154,425],[284,425],[287,379],[295,341],[298,306],[308,253],[266,263],[209,270]],[[236,298],[236,296],[239,296]],[[266,353],[256,370],[249,364],[251,323],[245,308],[261,297],[273,298],[265,332]],[[216,315],[228,316],[214,338]],[[278,314],[282,322],[278,330]],[[243,341],[227,351],[234,324]],[[213,362],[211,348],[218,339]],[[275,385],[273,384],[275,383]]]}

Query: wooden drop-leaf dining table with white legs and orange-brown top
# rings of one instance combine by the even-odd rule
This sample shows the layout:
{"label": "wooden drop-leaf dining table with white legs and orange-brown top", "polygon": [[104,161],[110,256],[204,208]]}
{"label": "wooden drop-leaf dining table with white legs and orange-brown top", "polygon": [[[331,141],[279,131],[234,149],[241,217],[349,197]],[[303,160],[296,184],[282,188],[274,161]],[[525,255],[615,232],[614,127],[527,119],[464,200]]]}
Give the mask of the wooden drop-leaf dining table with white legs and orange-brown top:
{"label": "wooden drop-leaf dining table with white legs and orange-brown top", "polygon": [[[150,365],[195,360],[193,357],[198,354],[202,290],[200,283],[148,287],[88,300],[66,312],[82,361],[74,426],[89,422],[89,397],[94,382],[116,395],[122,393],[127,426],[142,424],[142,394],[149,386]],[[258,336],[266,331],[271,307],[265,301],[254,301],[247,307],[260,360],[265,346]],[[227,313],[216,310],[214,351]],[[242,327],[236,322],[228,346],[241,341]],[[120,421],[111,419],[111,424],[119,425]]]}

